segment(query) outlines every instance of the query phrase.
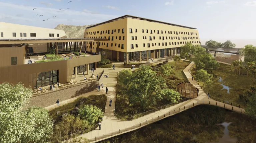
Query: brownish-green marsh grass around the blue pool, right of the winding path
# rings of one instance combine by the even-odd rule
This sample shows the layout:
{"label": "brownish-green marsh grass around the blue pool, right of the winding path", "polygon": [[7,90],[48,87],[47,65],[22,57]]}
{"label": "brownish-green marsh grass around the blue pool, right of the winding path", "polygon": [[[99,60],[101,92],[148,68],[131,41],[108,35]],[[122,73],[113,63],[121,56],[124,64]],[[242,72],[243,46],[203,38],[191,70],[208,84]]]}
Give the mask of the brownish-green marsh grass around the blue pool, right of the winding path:
{"label": "brownish-green marsh grass around the blue pool, right of the winding path", "polygon": [[[191,70],[195,75],[195,68]],[[255,86],[252,79],[247,77],[247,71],[243,70],[241,75],[235,75],[234,66],[220,63],[220,67],[214,70],[213,73],[218,77],[213,80],[211,84],[206,84],[204,89],[207,90],[211,96],[214,96],[225,101],[245,105],[245,101],[239,100],[239,94],[244,94],[245,90],[249,90],[250,86]],[[232,89],[227,93],[226,89],[223,89],[221,82],[218,81],[219,77],[222,78],[223,84]],[[202,86],[203,83],[200,82]]]}

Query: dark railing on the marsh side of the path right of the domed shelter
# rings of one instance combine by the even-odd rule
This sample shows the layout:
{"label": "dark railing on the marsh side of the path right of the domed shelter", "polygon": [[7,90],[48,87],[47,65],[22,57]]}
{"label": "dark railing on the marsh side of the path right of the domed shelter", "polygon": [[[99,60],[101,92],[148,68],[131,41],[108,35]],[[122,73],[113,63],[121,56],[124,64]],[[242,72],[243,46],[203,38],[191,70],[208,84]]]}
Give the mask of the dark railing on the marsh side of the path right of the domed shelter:
{"label": "dark railing on the marsh side of the path right of the domed shelter", "polygon": [[[195,63],[189,68],[189,73],[192,75],[192,73],[191,73],[191,68],[193,67],[195,65]],[[193,76],[193,75],[192,75]],[[210,92],[208,92],[207,90],[205,90],[201,85],[200,85],[200,83],[195,79],[195,77],[194,77],[194,80],[196,81],[196,83],[199,85],[199,87],[203,90],[203,92],[207,95],[208,93],[209,93],[209,95],[210,95]],[[210,96],[210,98],[211,99],[213,99],[213,100],[215,100],[215,101],[219,101],[219,102],[223,102],[223,103],[225,103],[225,104],[229,104],[229,105],[231,105],[231,106],[236,106],[236,107],[239,107],[239,108],[245,108],[246,106],[245,105],[241,105],[241,104],[237,104],[237,103],[233,103],[233,102],[229,102],[229,101],[227,101],[227,100],[223,100],[223,99],[218,99],[218,98],[216,98],[216,97],[213,97],[213,96]]]}

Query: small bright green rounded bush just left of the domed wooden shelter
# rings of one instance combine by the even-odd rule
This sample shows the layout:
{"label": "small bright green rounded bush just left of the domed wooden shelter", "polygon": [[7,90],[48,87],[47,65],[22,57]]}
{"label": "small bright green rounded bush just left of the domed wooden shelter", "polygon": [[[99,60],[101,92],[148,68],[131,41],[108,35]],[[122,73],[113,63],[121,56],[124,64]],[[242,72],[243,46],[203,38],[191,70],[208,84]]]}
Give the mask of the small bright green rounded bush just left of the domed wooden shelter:
{"label": "small bright green rounded bush just left of the domed wooden shelter", "polygon": [[167,99],[170,103],[181,100],[180,93],[172,89],[163,89],[161,95],[164,99]]}

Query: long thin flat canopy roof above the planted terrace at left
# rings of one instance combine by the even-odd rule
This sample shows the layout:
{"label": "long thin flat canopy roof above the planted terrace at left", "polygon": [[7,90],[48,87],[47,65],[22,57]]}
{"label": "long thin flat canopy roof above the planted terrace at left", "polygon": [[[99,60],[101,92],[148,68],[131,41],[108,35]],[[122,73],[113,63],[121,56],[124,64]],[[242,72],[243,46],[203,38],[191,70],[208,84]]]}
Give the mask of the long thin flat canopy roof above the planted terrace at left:
{"label": "long thin flat canopy roof above the planted terrace at left", "polygon": [[76,41],[108,41],[108,39],[101,39],[101,38],[0,39],[0,44],[76,42]]}

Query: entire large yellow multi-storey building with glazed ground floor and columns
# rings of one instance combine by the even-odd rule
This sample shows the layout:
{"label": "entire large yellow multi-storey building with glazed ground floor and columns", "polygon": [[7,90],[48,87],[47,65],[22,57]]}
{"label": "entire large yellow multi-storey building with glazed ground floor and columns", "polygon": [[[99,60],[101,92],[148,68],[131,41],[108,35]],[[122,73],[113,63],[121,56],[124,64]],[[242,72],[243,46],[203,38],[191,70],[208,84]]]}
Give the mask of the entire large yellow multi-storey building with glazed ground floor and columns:
{"label": "entire large yellow multi-storey building with glazed ground floor and columns", "polygon": [[108,39],[88,41],[86,50],[109,54],[110,59],[127,63],[178,54],[186,42],[200,44],[196,28],[129,15],[88,27],[84,37]]}

